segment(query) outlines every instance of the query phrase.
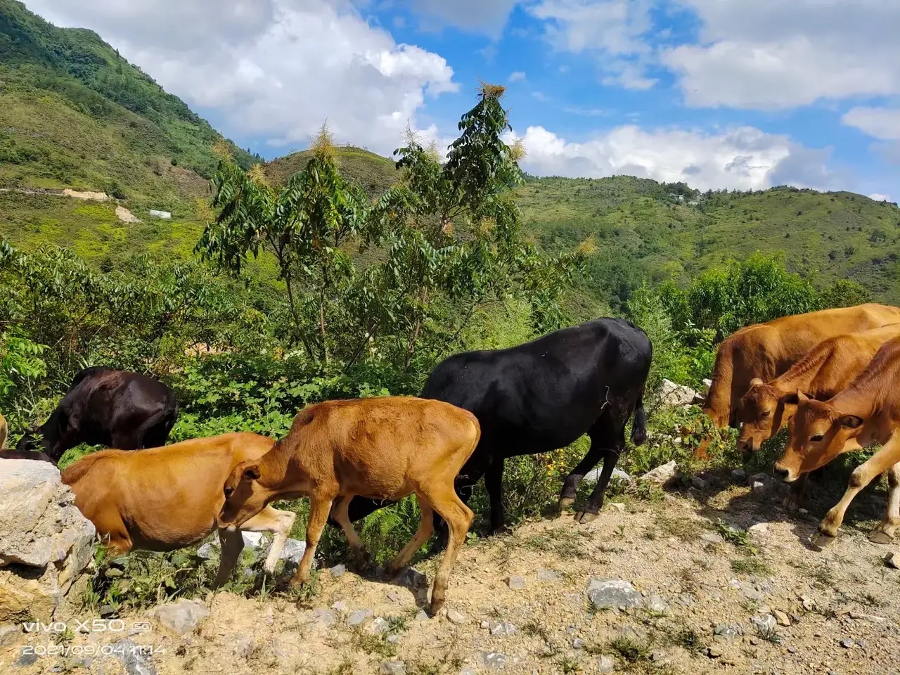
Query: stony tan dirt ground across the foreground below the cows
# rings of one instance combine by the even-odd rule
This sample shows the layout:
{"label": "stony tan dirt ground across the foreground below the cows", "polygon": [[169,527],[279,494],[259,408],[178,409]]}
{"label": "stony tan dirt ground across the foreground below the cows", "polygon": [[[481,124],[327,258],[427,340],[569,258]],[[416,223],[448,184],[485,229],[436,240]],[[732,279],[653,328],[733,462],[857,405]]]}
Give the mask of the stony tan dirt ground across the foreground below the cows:
{"label": "stony tan dirt ground across the foreground below the cows", "polygon": [[[845,527],[833,547],[812,551],[805,542],[816,518],[750,492],[725,487],[618,501],[589,526],[567,515],[476,541],[455,566],[449,611],[433,619],[420,613],[427,589],[417,574],[392,582],[323,571],[307,608],[284,597],[220,593],[202,602],[209,614],[183,634],[147,612],[121,617],[128,626],[149,621],[148,632],[129,639],[152,647],[152,656],[123,663],[115,653],[89,661],[48,655],[28,663],[22,644],[53,643],[19,634],[0,649],[0,671],[898,672],[900,572],[883,562],[891,549]],[[417,569],[430,581],[437,562]],[[636,593],[627,584],[591,587],[591,580],[624,581]],[[598,607],[610,598],[639,604]],[[121,645],[122,635],[76,633],[62,644],[84,652]]]}

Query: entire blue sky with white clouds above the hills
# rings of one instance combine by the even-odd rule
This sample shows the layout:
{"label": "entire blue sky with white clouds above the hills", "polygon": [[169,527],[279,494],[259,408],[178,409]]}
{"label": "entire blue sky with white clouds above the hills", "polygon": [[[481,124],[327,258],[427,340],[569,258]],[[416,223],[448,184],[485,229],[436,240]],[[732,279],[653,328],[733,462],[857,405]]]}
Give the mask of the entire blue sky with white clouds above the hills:
{"label": "entire blue sky with white clouds above the hills", "polygon": [[886,0],[26,0],[92,28],[265,157],[323,121],[440,146],[509,86],[525,168],[900,198],[900,3]]}

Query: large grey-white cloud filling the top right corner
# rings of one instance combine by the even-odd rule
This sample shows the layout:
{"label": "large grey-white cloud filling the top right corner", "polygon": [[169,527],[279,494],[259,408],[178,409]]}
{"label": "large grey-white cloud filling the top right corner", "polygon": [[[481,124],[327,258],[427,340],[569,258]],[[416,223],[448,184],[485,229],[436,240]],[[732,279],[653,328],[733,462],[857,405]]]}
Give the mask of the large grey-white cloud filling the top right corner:
{"label": "large grey-white cloud filling the top right corner", "polygon": [[682,0],[700,43],[662,50],[686,101],[783,109],[900,93],[900,3],[884,0]]}

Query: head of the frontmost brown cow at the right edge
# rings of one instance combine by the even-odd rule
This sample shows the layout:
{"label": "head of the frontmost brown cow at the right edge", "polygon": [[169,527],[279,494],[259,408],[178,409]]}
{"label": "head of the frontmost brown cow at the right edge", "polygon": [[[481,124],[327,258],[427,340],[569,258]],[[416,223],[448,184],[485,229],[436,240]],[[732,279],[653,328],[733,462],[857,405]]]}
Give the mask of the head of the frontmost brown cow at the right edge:
{"label": "head of the frontmost brown cow at the right edge", "polygon": [[802,474],[859,448],[854,440],[860,435],[863,421],[857,415],[842,415],[828,403],[797,392],[797,412],[788,424],[788,446],[775,463],[775,473],[785,482],[795,482]]}

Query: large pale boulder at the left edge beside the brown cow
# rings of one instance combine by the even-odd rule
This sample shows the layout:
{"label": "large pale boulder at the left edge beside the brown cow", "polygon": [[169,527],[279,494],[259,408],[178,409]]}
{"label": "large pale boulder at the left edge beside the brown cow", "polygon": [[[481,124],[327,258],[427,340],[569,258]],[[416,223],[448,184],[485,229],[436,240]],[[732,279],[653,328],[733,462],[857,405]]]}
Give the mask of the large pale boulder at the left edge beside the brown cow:
{"label": "large pale boulder at the left edge beside the brown cow", "polygon": [[0,495],[0,621],[49,621],[94,558],[94,525],[49,462],[0,462]]}

